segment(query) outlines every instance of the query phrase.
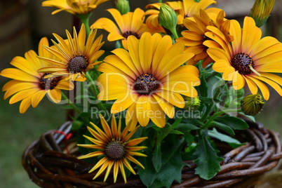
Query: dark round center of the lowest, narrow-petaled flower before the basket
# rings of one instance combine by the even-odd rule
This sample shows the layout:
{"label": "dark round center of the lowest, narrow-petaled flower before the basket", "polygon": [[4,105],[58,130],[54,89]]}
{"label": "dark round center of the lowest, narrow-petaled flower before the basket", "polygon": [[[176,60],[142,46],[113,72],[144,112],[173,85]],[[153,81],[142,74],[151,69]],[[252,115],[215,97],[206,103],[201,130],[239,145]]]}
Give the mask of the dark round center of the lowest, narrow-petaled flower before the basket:
{"label": "dark round center of the lowest, narrow-petaled flower before the basket", "polygon": [[125,153],[125,148],[122,142],[119,141],[112,141],[109,142],[105,149],[105,155],[112,160],[119,160],[122,159]]}

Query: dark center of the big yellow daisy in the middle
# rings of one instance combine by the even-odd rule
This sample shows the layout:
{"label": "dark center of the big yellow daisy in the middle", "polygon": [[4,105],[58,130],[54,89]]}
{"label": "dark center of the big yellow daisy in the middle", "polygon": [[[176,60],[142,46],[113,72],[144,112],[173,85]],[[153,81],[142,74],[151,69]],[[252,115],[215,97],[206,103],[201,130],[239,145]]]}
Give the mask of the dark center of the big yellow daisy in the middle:
{"label": "dark center of the big yellow daisy in the middle", "polygon": [[154,90],[158,89],[160,83],[152,74],[141,74],[138,76],[134,83],[134,89],[137,93],[142,95],[149,95]]}

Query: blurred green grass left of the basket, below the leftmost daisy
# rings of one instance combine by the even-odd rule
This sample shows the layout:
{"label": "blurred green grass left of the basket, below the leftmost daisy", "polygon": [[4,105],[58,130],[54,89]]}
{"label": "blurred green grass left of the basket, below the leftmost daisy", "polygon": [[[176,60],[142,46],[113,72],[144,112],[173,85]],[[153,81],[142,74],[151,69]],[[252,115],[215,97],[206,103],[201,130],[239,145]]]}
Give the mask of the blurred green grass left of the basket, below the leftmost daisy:
{"label": "blurred green grass left of the basket, below the leftmost daisy", "polygon": [[[0,88],[3,87],[0,84]],[[25,169],[22,153],[34,140],[47,130],[58,128],[66,120],[65,109],[44,98],[35,109],[29,107],[20,114],[17,102],[9,105],[0,93],[0,187],[35,188]]]}

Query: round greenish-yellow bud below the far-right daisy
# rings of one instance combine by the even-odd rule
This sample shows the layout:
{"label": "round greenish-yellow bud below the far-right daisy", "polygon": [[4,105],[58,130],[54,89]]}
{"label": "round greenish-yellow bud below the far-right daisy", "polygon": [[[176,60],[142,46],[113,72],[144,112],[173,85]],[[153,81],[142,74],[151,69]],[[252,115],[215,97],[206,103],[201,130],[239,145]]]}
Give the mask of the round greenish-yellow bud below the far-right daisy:
{"label": "round greenish-yellow bud below the far-right daisy", "polygon": [[241,101],[241,109],[246,115],[255,116],[260,112],[264,105],[260,94],[247,95]]}

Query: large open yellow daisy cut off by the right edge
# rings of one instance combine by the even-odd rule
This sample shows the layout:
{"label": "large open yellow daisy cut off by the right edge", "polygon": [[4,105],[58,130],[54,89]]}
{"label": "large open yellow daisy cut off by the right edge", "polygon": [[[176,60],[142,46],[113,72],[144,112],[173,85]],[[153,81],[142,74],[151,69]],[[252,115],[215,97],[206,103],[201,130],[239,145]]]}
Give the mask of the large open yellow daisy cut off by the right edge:
{"label": "large open yellow daisy cut off by the right edge", "polygon": [[213,69],[223,72],[222,79],[232,81],[236,90],[247,83],[253,95],[257,94],[258,87],[264,100],[269,99],[269,89],[262,81],[282,95],[282,78],[269,73],[282,72],[282,44],[277,39],[271,36],[261,39],[262,31],[250,17],[244,19],[242,29],[238,21],[231,20],[230,34],[234,36],[231,44],[226,42],[219,29],[212,26],[207,28],[211,32],[207,32],[206,36],[217,41],[221,47],[218,48],[210,41],[204,42],[210,47],[208,55],[215,60]]}

